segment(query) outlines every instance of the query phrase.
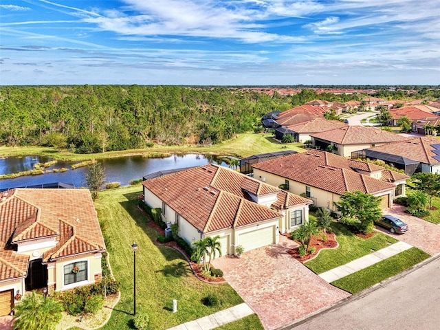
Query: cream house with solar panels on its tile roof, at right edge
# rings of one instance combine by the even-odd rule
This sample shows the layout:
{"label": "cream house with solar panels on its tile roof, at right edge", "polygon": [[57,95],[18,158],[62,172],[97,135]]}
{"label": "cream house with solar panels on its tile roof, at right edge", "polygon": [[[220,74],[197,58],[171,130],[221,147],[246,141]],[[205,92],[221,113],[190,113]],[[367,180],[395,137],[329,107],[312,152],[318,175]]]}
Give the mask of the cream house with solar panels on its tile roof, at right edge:
{"label": "cream house with solar panels on its tile roof, at right edge", "polygon": [[440,140],[430,136],[366,148],[351,157],[380,159],[405,170],[407,175],[417,172],[440,174]]}

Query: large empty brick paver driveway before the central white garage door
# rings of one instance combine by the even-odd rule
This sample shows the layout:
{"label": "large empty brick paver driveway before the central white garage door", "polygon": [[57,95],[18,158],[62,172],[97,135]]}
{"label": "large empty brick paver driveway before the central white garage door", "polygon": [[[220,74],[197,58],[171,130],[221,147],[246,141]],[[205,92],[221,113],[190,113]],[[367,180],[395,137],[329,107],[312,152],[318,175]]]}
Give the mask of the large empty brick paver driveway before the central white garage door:
{"label": "large empty brick paver driveway before the central white garage door", "polygon": [[241,259],[223,256],[214,266],[259,316],[265,329],[289,325],[307,314],[350,296],[287,254],[292,241],[245,252]]}

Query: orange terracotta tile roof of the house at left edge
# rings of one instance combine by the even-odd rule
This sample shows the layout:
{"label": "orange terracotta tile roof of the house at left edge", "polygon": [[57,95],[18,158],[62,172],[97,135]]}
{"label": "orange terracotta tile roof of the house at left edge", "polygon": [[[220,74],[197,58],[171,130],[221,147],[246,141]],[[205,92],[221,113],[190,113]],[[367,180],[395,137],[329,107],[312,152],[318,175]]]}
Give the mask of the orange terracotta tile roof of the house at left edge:
{"label": "orange terracotta tile roof of the house at left edge", "polygon": [[[0,228],[0,240],[5,242],[0,251],[55,236],[58,243],[45,252],[45,261],[105,249],[94,203],[85,189],[17,188],[2,192]],[[71,244],[63,246],[69,240]]]}

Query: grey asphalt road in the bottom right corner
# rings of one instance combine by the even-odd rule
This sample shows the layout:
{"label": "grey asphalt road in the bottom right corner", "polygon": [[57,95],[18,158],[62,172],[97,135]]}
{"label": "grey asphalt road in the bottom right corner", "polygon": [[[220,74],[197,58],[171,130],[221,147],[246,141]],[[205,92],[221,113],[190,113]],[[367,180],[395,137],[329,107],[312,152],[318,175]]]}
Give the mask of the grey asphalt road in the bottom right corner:
{"label": "grey asphalt road in the bottom right corner", "polygon": [[285,330],[440,329],[440,258],[402,275]]}

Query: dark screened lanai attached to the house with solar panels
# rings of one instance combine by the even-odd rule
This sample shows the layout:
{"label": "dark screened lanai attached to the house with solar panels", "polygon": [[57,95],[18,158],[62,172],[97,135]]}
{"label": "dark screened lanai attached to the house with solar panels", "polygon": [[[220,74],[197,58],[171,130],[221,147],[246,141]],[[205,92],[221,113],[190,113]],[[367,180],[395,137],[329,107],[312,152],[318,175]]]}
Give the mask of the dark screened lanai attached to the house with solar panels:
{"label": "dark screened lanai attached to the house with solar panels", "polygon": [[406,175],[413,175],[421,168],[420,162],[412,160],[399,155],[393,155],[391,153],[383,153],[382,151],[375,151],[371,149],[363,149],[360,151],[353,151],[351,153],[351,159],[379,159],[386,164],[391,164],[399,170],[404,170]]}

